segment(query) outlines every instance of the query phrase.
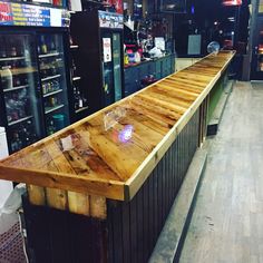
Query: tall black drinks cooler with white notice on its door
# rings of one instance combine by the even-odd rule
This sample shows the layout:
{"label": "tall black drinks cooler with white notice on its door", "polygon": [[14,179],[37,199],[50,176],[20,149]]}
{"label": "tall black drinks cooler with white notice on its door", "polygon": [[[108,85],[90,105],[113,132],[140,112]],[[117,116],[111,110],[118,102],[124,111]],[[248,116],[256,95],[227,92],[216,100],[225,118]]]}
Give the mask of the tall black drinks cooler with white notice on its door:
{"label": "tall black drinks cooler with white notice on its door", "polygon": [[89,114],[123,98],[123,14],[98,10],[71,14],[71,45],[78,47],[76,85]]}

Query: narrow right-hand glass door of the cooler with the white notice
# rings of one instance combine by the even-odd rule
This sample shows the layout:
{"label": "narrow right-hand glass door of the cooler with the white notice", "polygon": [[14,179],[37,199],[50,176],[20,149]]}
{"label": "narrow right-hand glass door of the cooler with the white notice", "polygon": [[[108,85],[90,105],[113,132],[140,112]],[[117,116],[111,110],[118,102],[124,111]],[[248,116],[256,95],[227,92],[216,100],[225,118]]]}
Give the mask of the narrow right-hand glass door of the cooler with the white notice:
{"label": "narrow right-hand glass door of the cooler with the white notice", "polygon": [[115,101],[121,99],[120,35],[113,33]]}

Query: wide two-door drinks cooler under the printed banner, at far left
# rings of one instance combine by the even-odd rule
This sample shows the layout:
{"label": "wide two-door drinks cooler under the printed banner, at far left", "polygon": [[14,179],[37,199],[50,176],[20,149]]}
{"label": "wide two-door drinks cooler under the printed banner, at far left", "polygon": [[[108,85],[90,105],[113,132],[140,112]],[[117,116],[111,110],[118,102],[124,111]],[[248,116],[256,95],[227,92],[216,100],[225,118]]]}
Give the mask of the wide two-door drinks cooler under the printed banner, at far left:
{"label": "wide two-door drinks cooler under the printed banner, at far left", "polygon": [[[14,153],[69,124],[64,41],[68,29],[48,25],[52,20],[51,8],[4,4],[12,12],[8,22],[0,22],[0,125],[6,127],[9,152]],[[25,13],[36,11],[40,17],[43,10],[46,17],[40,23],[17,26],[23,14],[14,12],[18,8]],[[28,16],[25,19],[30,21]]]}

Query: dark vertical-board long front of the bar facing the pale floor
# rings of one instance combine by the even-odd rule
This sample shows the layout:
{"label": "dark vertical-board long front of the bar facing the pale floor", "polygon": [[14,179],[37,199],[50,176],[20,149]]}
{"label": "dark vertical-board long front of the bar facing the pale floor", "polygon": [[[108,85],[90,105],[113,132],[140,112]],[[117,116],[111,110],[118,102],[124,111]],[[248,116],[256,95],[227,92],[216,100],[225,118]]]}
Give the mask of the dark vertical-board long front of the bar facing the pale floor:
{"label": "dark vertical-board long front of the bar facing the pale floor", "polygon": [[108,201],[109,262],[147,262],[198,147],[199,109],[130,202]]}

